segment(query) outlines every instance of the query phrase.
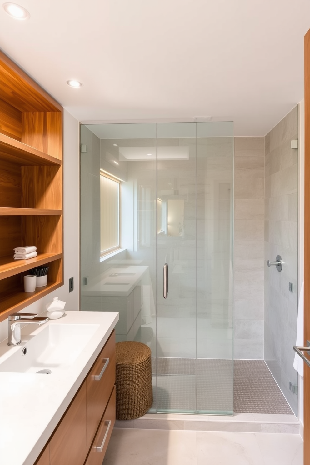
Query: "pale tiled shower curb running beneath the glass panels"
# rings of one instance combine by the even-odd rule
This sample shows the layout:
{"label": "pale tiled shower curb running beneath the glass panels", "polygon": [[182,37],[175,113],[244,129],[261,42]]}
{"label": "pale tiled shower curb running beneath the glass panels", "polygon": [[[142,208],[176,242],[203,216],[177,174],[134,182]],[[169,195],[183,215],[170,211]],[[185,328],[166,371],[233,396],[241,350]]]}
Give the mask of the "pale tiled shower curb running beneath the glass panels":
{"label": "pale tiled shower curb running beneath the glass panels", "polygon": [[300,423],[294,414],[235,413],[233,416],[222,416],[146,413],[143,417],[134,420],[116,420],[114,427],[300,434]]}

